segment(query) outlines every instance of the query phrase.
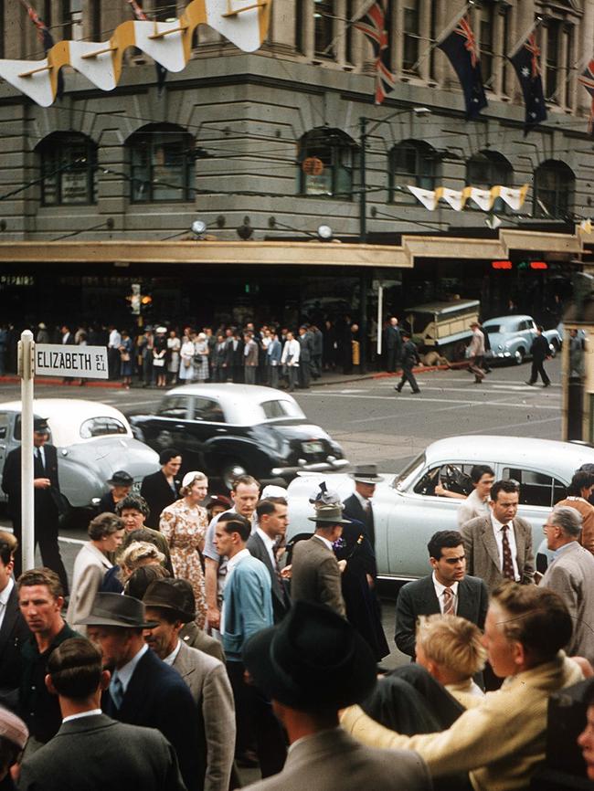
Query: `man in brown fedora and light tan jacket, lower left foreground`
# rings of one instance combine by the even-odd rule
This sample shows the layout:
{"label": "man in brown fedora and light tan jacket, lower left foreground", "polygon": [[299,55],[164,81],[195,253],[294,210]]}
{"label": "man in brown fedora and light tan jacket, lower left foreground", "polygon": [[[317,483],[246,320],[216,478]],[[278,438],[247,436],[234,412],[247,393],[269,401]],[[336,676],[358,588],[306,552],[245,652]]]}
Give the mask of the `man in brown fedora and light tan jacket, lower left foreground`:
{"label": "man in brown fedora and light tan jacket, lower left foreground", "polygon": [[144,639],[159,659],[177,670],[196,702],[203,787],[226,791],[235,748],[235,707],[225,665],[179,638],[194,614],[185,612],[186,596],[173,579],[154,580],[143,604],[146,617],[157,624],[144,632]]}

